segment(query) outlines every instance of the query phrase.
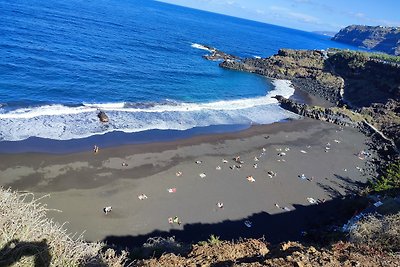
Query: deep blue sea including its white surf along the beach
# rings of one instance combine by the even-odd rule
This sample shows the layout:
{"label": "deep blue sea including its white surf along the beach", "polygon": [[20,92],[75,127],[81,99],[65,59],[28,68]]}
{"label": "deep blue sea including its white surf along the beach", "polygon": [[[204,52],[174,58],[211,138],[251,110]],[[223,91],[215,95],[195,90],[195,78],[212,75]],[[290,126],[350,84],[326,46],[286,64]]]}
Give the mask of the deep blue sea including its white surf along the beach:
{"label": "deep blue sea including its white surf along the beach", "polygon": [[[225,70],[242,57],[348,47],[328,37],[150,0],[0,0],[0,141],[186,130],[292,118],[287,82]],[[104,110],[111,121],[101,124]]]}

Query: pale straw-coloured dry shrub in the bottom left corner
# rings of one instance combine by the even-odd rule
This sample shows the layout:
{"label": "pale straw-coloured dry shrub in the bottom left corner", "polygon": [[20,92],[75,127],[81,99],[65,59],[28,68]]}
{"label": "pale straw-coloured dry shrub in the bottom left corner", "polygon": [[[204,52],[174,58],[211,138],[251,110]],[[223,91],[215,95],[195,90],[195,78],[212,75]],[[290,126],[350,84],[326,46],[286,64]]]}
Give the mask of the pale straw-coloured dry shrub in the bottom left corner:
{"label": "pale straw-coloured dry shrub in the bottom left corner", "polygon": [[68,234],[40,200],[0,188],[0,266],[124,266],[125,252]]}

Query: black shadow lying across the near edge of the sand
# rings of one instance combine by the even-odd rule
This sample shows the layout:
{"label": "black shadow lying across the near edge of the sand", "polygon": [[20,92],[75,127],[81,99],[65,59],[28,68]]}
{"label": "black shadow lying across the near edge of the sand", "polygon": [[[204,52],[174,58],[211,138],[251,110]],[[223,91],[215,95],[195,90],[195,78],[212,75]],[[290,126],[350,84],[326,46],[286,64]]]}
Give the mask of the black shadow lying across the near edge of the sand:
{"label": "black shadow lying across the near edge of the sand", "polygon": [[[169,231],[154,230],[148,234],[136,236],[107,236],[103,241],[110,246],[130,250],[141,247],[149,238],[154,237],[175,237],[178,243],[193,244],[207,241],[211,235],[228,241],[264,238],[266,242],[272,244],[289,240],[321,244],[327,241],[318,234],[321,230],[326,230],[326,227],[331,225],[343,225],[355,211],[364,207],[365,203],[359,199],[336,198],[307,206],[294,204],[290,211],[277,208],[276,214],[259,212],[240,220],[176,225]],[[251,222],[251,227],[246,226],[247,221]],[[332,229],[329,228],[329,230]]]}

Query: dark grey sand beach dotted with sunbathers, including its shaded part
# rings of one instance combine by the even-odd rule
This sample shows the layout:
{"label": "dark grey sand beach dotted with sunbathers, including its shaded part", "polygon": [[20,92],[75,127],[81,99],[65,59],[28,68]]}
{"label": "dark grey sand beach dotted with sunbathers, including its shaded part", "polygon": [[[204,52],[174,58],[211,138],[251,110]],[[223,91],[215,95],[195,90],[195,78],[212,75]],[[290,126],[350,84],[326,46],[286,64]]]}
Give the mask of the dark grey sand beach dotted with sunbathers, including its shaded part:
{"label": "dark grey sand beach dotted with sunbathers, including its shaded part", "polygon": [[[41,201],[62,211],[50,216],[91,241],[138,245],[157,235],[198,241],[216,234],[279,242],[340,214],[343,196],[367,179],[366,160],[357,157],[365,142],[355,129],[301,119],[170,142],[100,142],[97,154],[89,143],[77,153],[1,154],[0,181],[49,194]],[[169,224],[175,216],[180,225]]]}

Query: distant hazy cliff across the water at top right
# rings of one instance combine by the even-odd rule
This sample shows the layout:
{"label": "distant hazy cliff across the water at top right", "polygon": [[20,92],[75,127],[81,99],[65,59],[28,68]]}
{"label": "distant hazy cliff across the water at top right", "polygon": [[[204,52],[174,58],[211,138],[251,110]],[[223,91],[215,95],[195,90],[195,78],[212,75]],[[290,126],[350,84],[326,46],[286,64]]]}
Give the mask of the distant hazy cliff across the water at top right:
{"label": "distant hazy cliff across the water at top right", "polygon": [[400,55],[400,27],[351,25],[341,29],[332,40]]}

